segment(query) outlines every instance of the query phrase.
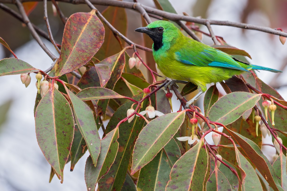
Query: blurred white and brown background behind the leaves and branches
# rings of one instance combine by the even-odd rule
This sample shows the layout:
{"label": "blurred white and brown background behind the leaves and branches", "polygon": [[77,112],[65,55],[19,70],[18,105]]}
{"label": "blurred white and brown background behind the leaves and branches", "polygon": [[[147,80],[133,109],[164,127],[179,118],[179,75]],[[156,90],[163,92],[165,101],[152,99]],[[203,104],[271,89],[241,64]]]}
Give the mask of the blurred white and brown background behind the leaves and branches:
{"label": "blurred white and brown background behind the leaves and branches", "polygon": [[[131,0],[130,0],[131,1]],[[138,2],[155,7],[152,0],[139,0]],[[191,16],[202,18],[244,22],[254,25],[282,28],[287,31],[287,1],[284,0],[170,0],[178,14],[183,12]],[[15,5],[8,7],[18,12]],[[69,17],[76,12],[90,12],[86,5],[71,5],[59,2],[59,7],[64,15]],[[104,6],[96,6],[100,11]],[[127,37],[133,42],[142,44],[141,34],[135,33],[134,29],[141,27],[139,13],[126,10],[128,19]],[[62,41],[64,25],[59,16],[54,16],[52,4],[48,2],[48,17],[53,36],[57,42]],[[46,31],[43,19],[43,3],[39,2],[30,13],[32,23]],[[46,70],[52,64],[52,60],[40,48],[30,35],[27,27],[20,21],[0,9],[0,37],[2,37],[19,59],[41,70]],[[205,26],[201,30],[208,32]],[[235,27],[212,25],[214,33],[221,36],[231,46],[248,52],[252,64],[282,69],[287,63],[287,45],[283,46],[279,36]],[[44,40],[46,46],[58,55],[51,43]],[[203,42],[212,45],[211,38],[204,37]],[[149,47],[151,48],[151,47]],[[144,54],[144,53],[141,53]],[[0,45],[0,59],[13,57],[10,52]],[[146,72],[145,68],[141,70]],[[279,76],[271,72],[257,72],[259,78],[267,84],[276,87],[283,98],[287,98],[286,70]],[[88,152],[83,156],[73,172],[69,172],[67,164],[64,170],[64,182],[60,183],[53,178],[49,183],[51,167],[40,150],[34,123],[34,103],[36,98],[35,74],[31,74],[31,84],[25,88],[20,80],[20,75],[0,77],[0,190],[2,191],[33,191],[33,190],[86,190],[84,180],[84,168]],[[218,86],[220,88],[220,86]],[[173,97],[174,108],[179,103]],[[197,105],[201,108],[203,96]],[[175,109],[177,110],[177,109]],[[267,142],[266,142],[267,141]],[[266,143],[270,141],[265,140]],[[275,149],[262,147],[269,160]]]}

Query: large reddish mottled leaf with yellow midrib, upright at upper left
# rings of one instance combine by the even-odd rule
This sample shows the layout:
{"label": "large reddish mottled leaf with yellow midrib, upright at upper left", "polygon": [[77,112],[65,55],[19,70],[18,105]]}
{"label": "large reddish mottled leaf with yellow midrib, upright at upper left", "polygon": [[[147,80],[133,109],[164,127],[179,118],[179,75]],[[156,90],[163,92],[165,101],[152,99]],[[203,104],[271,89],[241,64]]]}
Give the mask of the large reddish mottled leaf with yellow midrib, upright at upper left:
{"label": "large reddish mottled leaf with yellow midrib, upright at upper left", "polygon": [[104,26],[90,13],[74,13],[65,24],[57,76],[84,66],[104,42]]}

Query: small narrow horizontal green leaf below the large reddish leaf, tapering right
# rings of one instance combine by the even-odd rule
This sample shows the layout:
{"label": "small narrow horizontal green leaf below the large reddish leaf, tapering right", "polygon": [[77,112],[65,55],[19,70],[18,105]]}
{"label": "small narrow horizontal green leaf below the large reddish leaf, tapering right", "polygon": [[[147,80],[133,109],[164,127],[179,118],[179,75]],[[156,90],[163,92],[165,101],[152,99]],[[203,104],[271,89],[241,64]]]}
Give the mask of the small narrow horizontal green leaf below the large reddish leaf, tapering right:
{"label": "small narrow horizontal green leaf below the large reddish leaf, tapering right", "polygon": [[95,99],[110,99],[110,98],[124,98],[113,90],[101,87],[90,87],[81,90],[77,93],[77,97],[82,101],[95,100]]}

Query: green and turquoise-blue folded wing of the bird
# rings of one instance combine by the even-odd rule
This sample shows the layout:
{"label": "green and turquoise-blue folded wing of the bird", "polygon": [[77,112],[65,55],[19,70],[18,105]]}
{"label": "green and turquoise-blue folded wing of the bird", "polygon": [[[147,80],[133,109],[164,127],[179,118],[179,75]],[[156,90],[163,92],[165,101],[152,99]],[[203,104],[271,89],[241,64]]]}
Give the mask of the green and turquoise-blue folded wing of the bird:
{"label": "green and turquoise-blue folded wing of the bird", "polygon": [[[196,47],[193,48],[197,49]],[[186,46],[175,52],[175,59],[184,64],[195,66],[215,66],[248,72],[248,70],[233,60],[230,55],[209,46],[204,48],[201,48],[202,51],[191,53],[190,47]]]}

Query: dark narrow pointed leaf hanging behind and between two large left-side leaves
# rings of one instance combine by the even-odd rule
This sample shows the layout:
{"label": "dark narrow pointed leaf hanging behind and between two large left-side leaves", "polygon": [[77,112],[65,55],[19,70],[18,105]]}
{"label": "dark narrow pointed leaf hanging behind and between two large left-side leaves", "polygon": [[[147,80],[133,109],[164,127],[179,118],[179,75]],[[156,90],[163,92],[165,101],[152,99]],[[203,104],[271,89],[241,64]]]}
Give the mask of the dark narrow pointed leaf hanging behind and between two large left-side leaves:
{"label": "dark narrow pointed leaf hanging behind and between two large left-side leaves", "polygon": [[71,169],[70,171],[73,171],[75,168],[75,165],[79,161],[79,159],[86,153],[88,147],[86,144],[86,141],[79,130],[79,127],[77,124],[75,124],[75,131],[74,131],[74,138],[73,143],[70,151],[71,156]]}

